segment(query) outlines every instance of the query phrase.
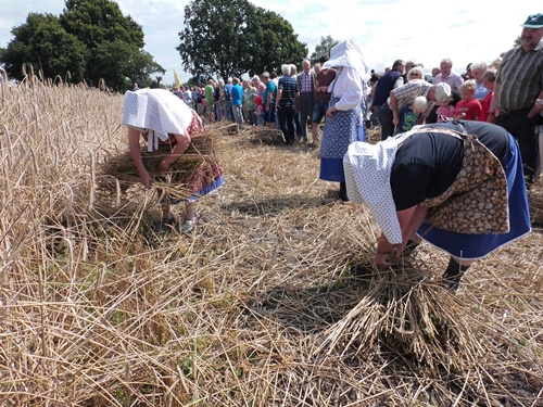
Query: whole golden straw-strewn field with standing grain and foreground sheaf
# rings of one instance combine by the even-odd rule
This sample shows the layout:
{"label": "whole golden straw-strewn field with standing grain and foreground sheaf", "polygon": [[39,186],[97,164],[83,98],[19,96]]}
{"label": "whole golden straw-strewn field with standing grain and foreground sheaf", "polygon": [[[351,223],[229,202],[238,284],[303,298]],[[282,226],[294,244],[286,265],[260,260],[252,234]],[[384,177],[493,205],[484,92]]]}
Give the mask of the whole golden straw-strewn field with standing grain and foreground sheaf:
{"label": "whole golden straw-strewn field with standing grain and foreground sheaf", "polygon": [[318,149],[220,123],[225,186],[193,234],[155,233],[155,191],[102,185],[122,96],[35,78],[0,96],[0,405],[542,404],[541,229],[453,296],[428,244],[374,268],[379,229],[320,204]]}

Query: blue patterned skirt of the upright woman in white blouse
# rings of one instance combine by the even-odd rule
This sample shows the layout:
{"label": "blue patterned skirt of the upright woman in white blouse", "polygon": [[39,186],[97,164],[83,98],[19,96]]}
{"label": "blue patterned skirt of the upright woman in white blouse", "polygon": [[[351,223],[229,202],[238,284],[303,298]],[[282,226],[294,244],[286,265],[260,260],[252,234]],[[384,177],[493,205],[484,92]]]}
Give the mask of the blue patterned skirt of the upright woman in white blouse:
{"label": "blue patterned skirt of the upright woman in white blouse", "polygon": [[[338,103],[339,98],[332,98],[328,107]],[[349,111],[337,111],[327,117],[320,145],[320,175],[326,181],[344,182],[343,156],[349,145],[355,141],[365,141],[364,120],[361,106]]]}

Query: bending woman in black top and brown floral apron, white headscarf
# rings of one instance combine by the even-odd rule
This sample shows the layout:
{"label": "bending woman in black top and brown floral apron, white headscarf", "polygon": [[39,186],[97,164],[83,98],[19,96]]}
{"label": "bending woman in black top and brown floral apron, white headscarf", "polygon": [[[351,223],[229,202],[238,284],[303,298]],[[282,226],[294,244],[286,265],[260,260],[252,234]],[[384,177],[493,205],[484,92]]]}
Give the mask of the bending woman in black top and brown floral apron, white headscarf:
{"label": "bending woman in black top and brown floral apron, white headscarf", "polygon": [[422,238],[451,255],[443,282],[456,292],[475,259],[531,230],[518,145],[490,123],[438,123],[375,145],[354,142],[343,165],[350,200],[366,204],[382,230],[377,266]]}

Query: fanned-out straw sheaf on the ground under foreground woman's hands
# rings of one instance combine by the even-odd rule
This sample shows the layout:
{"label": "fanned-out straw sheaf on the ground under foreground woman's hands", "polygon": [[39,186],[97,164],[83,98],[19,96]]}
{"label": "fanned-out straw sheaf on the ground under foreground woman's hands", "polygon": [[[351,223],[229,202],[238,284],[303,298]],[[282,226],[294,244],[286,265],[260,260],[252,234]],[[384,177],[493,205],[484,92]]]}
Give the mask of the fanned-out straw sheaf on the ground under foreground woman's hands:
{"label": "fanned-out straw sheaf on the ground under foreground woman's hands", "polygon": [[[367,225],[350,227],[355,240],[367,239]],[[370,258],[371,247],[366,249]],[[367,291],[341,320],[330,326],[317,352],[327,355],[372,354],[392,348],[432,370],[457,371],[472,366],[484,349],[469,328],[454,296],[444,292],[431,266],[402,257],[396,266],[362,266],[369,277]]]}

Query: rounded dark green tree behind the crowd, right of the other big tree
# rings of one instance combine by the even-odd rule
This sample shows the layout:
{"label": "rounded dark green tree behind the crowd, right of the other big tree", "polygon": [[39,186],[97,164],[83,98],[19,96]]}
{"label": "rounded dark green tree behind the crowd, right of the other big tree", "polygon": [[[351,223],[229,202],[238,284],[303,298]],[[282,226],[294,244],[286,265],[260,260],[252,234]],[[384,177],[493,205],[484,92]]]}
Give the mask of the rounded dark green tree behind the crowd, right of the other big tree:
{"label": "rounded dark green tree behind the crowd, right of the other big tree", "polygon": [[288,21],[248,0],[193,0],[185,7],[179,40],[184,68],[195,76],[279,71],[307,55]]}

